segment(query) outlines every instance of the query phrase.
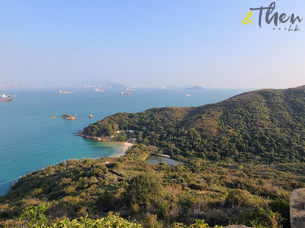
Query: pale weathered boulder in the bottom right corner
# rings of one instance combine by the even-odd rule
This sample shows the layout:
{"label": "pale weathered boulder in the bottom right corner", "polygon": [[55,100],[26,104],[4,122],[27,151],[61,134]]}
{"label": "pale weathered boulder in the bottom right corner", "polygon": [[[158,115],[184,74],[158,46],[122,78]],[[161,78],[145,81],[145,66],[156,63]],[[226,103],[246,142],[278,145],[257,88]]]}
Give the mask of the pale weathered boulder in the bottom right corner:
{"label": "pale weathered boulder in the bottom right corner", "polygon": [[290,193],[289,207],[291,228],[305,227],[305,188]]}

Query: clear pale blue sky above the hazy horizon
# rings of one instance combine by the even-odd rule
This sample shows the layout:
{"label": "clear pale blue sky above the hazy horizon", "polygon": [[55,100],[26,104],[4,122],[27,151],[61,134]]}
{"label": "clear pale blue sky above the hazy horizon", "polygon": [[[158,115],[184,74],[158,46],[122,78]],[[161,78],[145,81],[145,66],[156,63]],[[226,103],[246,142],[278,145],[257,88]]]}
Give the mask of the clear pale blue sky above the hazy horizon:
{"label": "clear pale blue sky above the hazy horizon", "polygon": [[[0,85],[82,83],[289,88],[305,84],[305,19],[271,1],[0,1]],[[271,16],[305,17],[305,1]],[[288,31],[289,26],[301,29]],[[275,28],[275,29],[273,29]],[[281,30],[279,29],[281,28]],[[285,30],[286,28],[286,30]]]}

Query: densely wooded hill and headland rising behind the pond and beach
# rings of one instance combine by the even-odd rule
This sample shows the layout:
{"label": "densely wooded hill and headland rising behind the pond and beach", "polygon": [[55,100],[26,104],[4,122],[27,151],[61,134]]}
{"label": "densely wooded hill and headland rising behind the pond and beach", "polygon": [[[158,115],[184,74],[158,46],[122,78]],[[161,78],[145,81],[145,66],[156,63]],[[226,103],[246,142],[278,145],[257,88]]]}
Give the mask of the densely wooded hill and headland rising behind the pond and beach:
{"label": "densely wooded hill and headland rising behind the pond and beach", "polygon": [[305,161],[305,86],[261,89],[199,107],[117,113],[90,124],[91,136],[136,131],[138,143],[164,154],[256,164]]}

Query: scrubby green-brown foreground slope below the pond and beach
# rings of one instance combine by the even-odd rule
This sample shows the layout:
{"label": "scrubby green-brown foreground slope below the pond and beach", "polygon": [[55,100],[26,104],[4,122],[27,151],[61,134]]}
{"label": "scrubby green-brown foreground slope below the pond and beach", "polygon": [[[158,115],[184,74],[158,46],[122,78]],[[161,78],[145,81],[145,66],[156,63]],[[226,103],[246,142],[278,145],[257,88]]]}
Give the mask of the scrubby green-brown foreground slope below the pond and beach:
{"label": "scrubby green-brown foreground slope below the pond and beach", "polygon": [[211,226],[289,227],[289,192],[305,187],[301,163],[258,165],[192,158],[170,167],[143,161],[151,149],[138,144],[124,157],[74,159],[67,162],[66,171],[61,163],[24,176],[0,197],[0,221],[25,224],[23,210],[47,205],[41,216],[49,225],[113,213],[142,225],[155,215],[158,228],[175,222],[191,225],[195,219]]}

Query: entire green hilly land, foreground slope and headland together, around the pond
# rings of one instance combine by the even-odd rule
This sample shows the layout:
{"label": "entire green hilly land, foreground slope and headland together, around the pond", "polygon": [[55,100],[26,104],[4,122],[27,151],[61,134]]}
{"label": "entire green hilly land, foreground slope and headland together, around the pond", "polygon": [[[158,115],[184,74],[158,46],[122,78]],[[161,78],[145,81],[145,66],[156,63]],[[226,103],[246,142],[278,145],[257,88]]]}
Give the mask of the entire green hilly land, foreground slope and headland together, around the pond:
{"label": "entire green hilly land, foreground slope and headland together, around the pond", "polygon": [[[136,144],[121,157],[73,159],[21,177],[0,197],[0,224],[303,227],[304,107],[300,86],[107,116],[80,134]],[[149,164],[151,154],[184,162]]]}

